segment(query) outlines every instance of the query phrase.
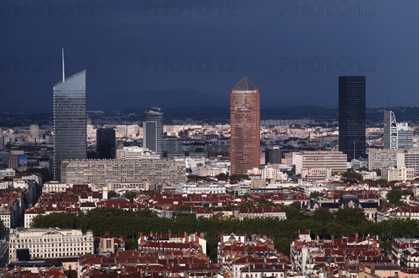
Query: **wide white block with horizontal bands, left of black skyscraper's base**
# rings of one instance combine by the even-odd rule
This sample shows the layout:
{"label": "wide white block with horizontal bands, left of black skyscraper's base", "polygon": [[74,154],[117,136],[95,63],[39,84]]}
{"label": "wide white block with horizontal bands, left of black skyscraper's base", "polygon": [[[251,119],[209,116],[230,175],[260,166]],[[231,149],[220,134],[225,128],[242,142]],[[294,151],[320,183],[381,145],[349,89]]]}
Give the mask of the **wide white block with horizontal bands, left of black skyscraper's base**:
{"label": "wide white block with horizontal bands, left of black skyscraper's base", "polygon": [[332,173],[343,173],[347,170],[347,156],[343,152],[299,152],[295,154],[295,174],[302,168],[330,168]]}

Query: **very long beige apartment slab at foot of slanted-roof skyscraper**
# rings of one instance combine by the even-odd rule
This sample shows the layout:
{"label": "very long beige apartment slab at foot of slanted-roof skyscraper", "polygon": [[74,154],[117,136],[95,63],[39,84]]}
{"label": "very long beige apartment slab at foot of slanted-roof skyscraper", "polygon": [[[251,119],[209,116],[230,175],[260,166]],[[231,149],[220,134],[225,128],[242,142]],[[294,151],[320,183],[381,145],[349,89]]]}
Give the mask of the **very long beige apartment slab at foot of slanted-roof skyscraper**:
{"label": "very long beige apartment slab at foot of slanted-roof skyscraper", "polygon": [[61,164],[61,182],[105,186],[109,182],[184,184],[185,164],[170,159],[76,159]]}

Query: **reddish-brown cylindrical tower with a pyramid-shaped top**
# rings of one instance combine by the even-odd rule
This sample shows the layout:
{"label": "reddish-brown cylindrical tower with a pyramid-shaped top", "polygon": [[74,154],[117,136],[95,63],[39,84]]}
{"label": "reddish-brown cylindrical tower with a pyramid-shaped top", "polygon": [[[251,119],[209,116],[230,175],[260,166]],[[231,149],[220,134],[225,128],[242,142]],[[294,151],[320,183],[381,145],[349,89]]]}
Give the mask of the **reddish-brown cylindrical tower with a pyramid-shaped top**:
{"label": "reddish-brown cylindrical tower with a pyramid-shaped top", "polygon": [[230,173],[260,166],[260,92],[246,77],[230,92]]}

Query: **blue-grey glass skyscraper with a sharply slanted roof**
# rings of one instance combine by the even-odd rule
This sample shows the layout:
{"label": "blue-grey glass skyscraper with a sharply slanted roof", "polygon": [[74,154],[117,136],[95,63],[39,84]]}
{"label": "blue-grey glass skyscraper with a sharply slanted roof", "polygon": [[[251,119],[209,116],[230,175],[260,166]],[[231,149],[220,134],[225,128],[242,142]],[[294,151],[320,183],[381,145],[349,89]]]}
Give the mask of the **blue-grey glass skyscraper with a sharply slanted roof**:
{"label": "blue-grey glass skyscraper with a sharply slanted roof", "polygon": [[54,85],[54,180],[61,180],[61,161],[86,159],[86,71]]}

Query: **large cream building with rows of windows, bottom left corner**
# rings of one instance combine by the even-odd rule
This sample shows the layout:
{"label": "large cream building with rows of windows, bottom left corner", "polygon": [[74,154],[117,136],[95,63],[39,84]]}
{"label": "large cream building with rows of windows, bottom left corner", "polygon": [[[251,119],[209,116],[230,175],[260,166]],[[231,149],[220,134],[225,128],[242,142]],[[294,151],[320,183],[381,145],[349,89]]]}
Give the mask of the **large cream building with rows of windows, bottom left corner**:
{"label": "large cream building with rows of windows, bottom left corner", "polygon": [[18,249],[29,249],[31,259],[75,258],[93,254],[93,233],[59,228],[16,228],[10,230],[9,262],[17,260]]}

